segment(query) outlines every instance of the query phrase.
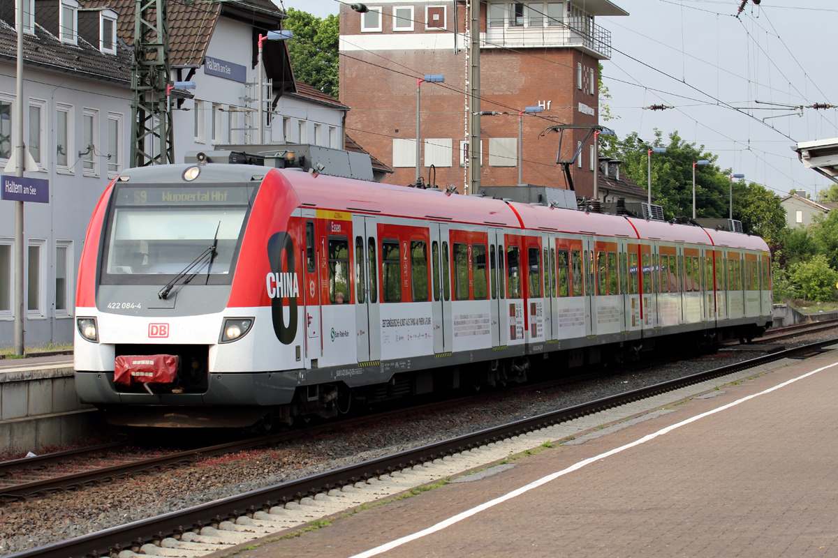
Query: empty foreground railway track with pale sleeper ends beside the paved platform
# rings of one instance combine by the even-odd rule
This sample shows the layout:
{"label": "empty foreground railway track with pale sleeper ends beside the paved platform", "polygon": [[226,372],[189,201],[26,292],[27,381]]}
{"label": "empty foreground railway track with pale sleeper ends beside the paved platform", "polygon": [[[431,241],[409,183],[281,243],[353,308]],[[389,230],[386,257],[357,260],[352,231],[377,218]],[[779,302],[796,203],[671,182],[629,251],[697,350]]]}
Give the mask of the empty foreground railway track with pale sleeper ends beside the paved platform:
{"label": "empty foreground railway track with pale sleeper ends beside the paved platform", "polygon": [[319,503],[326,505],[328,509],[328,502],[334,501],[337,496],[346,495],[350,497],[354,495],[362,500],[375,499],[378,497],[375,496],[377,485],[398,486],[402,482],[401,479],[416,474],[415,469],[423,463],[433,462],[444,465],[446,461],[450,462],[453,459],[468,461],[466,456],[478,451],[477,448],[500,445],[509,438],[520,437],[525,433],[539,431],[576,417],[587,416],[719,376],[727,376],[733,372],[761,366],[771,361],[814,356],[823,351],[823,347],[835,345],[836,342],[838,338],[773,352],[750,361],[737,362],[363,463],[251,490],[245,494],[218,499],[189,509],[26,550],[13,556],[15,558],[29,556],[66,558],[84,555],[118,555],[124,550],[163,554],[164,549],[169,550],[165,555],[178,555],[175,553],[177,549],[192,549],[190,550],[192,554],[181,555],[198,555],[199,551],[209,553],[220,550],[225,545],[240,544],[262,535],[287,529],[289,526],[302,525],[308,521],[304,511],[306,505]]}

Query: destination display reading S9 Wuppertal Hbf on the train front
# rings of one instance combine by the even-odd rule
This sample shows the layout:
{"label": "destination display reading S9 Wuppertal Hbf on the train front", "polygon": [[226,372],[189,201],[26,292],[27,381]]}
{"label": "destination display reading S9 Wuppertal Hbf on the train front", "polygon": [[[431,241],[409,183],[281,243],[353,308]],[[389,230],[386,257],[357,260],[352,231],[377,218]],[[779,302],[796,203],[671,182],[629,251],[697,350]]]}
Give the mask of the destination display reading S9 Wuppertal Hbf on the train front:
{"label": "destination display reading S9 Wuppertal Hbf on the train front", "polygon": [[117,206],[247,205],[250,187],[122,187]]}

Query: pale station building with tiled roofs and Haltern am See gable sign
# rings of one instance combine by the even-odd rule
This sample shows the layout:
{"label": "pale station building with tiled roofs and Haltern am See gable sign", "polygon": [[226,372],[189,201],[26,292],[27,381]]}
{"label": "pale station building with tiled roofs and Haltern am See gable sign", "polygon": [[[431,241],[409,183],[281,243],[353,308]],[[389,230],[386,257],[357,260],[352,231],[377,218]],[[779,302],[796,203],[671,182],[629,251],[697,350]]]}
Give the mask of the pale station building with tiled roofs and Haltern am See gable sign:
{"label": "pale station building with tiled roofs and Haltern am See gable sign", "polygon": [[[49,203],[24,203],[25,343],[73,339],[85,231],[113,177],[130,166],[133,0],[29,0],[24,14],[24,141]],[[15,146],[15,4],[0,0],[0,168]],[[282,27],[270,0],[170,3],[174,153],[255,144],[257,38]],[[294,79],[282,41],[264,44],[267,143],[344,147],[349,106]],[[189,98],[191,96],[191,98]],[[365,151],[349,141],[351,151]],[[389,167],[374,160],[374,171]],[[13,174],[13,171],[7,174]],[[0,346],[13,344],[14,202],[0,201]]]}

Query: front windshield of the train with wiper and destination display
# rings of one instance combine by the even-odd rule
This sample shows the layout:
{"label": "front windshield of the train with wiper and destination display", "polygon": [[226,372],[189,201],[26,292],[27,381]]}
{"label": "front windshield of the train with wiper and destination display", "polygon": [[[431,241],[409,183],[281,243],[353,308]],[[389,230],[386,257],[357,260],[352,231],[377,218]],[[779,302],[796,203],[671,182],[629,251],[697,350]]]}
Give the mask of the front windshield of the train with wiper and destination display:
{"label": "front windshield of the train with wiper and destination display", "polygon": [[[118,188],[103,282],[165,283],[163,276],[199,259],[189,274],[203,275],[200,283],[230,283],[254,189],[246,184]],[[208,250],[213,245],[215,254]]]}

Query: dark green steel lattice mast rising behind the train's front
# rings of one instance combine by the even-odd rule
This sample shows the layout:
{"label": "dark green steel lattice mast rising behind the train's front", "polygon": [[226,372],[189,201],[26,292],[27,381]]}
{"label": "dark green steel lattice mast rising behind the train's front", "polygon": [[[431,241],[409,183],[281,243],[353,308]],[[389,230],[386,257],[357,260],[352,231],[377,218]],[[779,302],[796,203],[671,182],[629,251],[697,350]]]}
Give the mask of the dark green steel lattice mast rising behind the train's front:
{"label": "dark green steel lattice mast rising behind the train's front", "polygon": [[133,47],[131,166],[173,163],[167,0],[137,0]]}

